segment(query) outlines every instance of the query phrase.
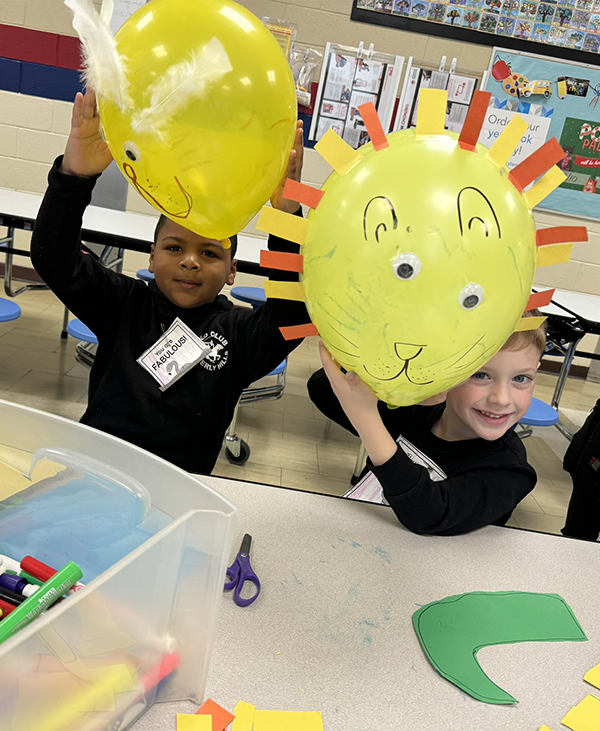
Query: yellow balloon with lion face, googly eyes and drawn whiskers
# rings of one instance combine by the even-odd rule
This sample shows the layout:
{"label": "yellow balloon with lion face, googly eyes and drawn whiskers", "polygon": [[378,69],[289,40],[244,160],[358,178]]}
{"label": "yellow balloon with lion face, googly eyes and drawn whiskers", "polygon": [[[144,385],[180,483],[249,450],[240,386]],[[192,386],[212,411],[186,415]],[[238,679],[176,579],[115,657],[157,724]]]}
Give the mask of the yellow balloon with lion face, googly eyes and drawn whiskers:
{"label": "yellow balloon with lion face, googly eyes and drawn whiskers", "polygon": [[394,406],[466,380],[513,332],[531,294],[525,196],[457,135],[388,135],[332,173],[308,216],[307,307],[336,360]]}

